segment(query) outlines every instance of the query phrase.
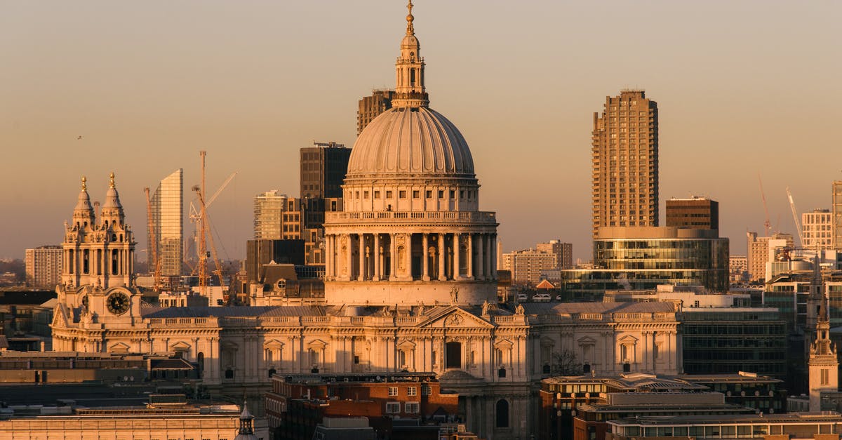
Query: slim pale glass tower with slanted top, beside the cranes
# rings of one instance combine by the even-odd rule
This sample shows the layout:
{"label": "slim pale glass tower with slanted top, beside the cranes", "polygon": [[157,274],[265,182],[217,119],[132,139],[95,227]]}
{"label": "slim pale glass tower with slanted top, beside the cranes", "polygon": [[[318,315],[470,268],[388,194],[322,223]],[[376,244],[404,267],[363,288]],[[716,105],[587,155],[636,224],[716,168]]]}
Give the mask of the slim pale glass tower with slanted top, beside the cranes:
{"label": "slim pale glass tower with slanted top, beside the cranes", "polygon": [[[184,170],[176,169],[158,183],[152,195],[152,225],[155,237],[149,234],[149,248],[155,240],[158,261],[148,252],[149,271],[160,264],[161,275],[181,276],[184,261]],[[150,231],[152,232],[152,231]]]}

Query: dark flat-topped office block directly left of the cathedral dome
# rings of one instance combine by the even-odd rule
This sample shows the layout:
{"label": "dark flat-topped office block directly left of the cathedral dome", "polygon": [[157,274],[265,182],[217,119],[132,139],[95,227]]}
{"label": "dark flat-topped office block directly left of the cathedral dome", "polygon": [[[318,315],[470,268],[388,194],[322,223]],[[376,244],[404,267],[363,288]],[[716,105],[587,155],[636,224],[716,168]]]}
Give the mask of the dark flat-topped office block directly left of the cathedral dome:
{"label": "dark flat-topped office block directly left of the cathedral dome", "polygon": [[351,149],[336,142],[313,142],[301,148],[301,198],[342,196]]}

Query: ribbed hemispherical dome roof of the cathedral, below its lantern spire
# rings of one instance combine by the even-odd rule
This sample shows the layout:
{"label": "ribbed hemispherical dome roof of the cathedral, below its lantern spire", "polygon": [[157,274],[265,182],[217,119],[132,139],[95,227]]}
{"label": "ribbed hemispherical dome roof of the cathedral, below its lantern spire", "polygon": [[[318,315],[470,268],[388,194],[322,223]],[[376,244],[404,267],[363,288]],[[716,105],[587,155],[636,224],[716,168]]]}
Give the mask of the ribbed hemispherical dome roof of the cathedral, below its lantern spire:
{"label": "ribbed hemispherical dome roof of the cathedral, below its lantern spire", "polygon": [[354,142],[348,179],[382,177],[473,177],[471,150],[444,115],[426,106],[386,110]]}

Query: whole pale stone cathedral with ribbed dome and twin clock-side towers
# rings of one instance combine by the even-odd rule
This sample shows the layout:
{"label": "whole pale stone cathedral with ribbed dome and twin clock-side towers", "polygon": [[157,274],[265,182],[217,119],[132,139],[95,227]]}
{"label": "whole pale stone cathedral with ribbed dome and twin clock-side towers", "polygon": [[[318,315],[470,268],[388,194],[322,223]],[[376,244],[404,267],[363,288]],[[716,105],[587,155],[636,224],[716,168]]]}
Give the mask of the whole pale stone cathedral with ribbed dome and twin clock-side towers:
{"label": "whole pale stone cathedral with ribbed dome and twin clock-side towers", "polygon": [[436,373],[464,399],[468,428],[492,439],[537,433],[539,382],[562,357],[600,374],[679,373],[672,304],[498,303],[497,218],[479,209],[465,138],[429,108],[411,3],[407,19],[393,107],[360,133],[344,212],[326,218],[323,303],[143,303],[112,177],[99,218],[83,183],[66,227],[55,350],[177,352],[233,395],[275,373]]}

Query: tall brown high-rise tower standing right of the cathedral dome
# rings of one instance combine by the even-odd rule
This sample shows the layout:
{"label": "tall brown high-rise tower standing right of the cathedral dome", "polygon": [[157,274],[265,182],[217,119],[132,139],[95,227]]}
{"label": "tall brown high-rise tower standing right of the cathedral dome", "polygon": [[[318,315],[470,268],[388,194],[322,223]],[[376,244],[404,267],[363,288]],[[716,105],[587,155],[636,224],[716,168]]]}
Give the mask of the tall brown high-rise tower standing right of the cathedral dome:
{"label": "tall brown high-rise tower standing right of the cathedral dome", "polygon": [[594,113],[593,235],[600,227],[658,226],[658,104],[622,90]]}

